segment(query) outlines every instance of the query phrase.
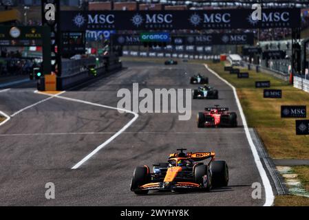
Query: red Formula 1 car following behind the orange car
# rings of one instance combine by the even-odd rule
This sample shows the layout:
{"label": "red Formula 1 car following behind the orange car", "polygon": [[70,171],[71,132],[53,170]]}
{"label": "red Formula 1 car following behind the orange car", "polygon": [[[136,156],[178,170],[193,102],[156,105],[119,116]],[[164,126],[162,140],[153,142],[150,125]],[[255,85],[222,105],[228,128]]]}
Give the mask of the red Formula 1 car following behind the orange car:
{"label": "red Formula 1 car following behind the orange car", "polygon": [[199,128],[205,126],[237,127],[237,114],[229,112],[228,108],[220,108],[219,105],[215,105],[214,108],[205,108],[204,112],[199,112],[197,122]]}

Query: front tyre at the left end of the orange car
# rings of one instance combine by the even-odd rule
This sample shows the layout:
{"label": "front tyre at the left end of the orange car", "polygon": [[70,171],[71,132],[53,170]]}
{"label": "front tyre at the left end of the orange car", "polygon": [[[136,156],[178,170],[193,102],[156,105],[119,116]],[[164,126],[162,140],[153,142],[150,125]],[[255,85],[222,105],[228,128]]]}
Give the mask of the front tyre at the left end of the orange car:
{"label": "front tyre at the left end of the orange car", "polygon": [[145,195],[148,193],[148,190],[138,190],[138,186],[142,186],[149,182],[149,175],[147,168],[145,166],[137,166],[134,170],[132,181],[131,181],[131,190],[134,190],[136,195]]}

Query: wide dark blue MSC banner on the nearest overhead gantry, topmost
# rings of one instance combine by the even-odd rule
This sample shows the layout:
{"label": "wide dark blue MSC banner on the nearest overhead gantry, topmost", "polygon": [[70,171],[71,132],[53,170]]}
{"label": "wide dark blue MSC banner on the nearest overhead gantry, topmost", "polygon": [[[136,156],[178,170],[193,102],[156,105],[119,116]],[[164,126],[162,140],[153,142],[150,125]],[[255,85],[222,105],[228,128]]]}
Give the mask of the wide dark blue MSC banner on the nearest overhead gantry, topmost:
{"label": "wide dark blue MSC banner on the nearest overhead gantry, topmost", "polygon": [[299,8],[267,8],[262,20],[251,9],[165,11],[61,11],[61,31],[85,30],[206,30],[299,28]]}

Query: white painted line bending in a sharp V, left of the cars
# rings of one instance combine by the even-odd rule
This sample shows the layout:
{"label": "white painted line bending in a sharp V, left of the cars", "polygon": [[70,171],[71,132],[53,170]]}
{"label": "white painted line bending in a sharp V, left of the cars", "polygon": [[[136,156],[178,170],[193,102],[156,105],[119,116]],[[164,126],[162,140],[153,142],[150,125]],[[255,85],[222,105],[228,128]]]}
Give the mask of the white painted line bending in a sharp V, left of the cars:
{"label": "white painted line bending in a sharp V, left of the cars", "polygon": [[[38,94],[41,94],[38,92]],[[45,94],[47,96],[50,96],[49,94]],[[89,104],[89,105],[93,105],[93,106],[96,106],[96,107],[103,107],[105,109],[113,109],[113,110],[117,110],[117,111],[124,111],[126,113],[131,113],[134,115],[134,118],[131,119],[125,126],[122,127],[122,129],[120,129],[118,132],[116,132],[114,135],[112,135],[111,137],[109,137],[108,140],[106,140],[103,144],[100,144],[100,146],[97,146],[94,151],[92,151],[91,153],[89,153],[86,157],[84,157],[80,162],[78,162],[77,164],[75,164],[73,167],[72,167],[72,170],[75,170],[75,169],[78,169],[81,165],[83,165],[85,162],[87,162],[88,159],[90,159],[91,157],[93,157],[96,153],[98,153],[98,151],[100,151],[100,149],[104,148],[105,146],[107,146],[107,144],[109,144],[111,141],[113,141],[116,137],[118,137],[121,133],[123,133],[125,130],[127,130],[129,128],[129,126],[131,126],[131,124],[133,124],[136,119],[138,119],[138,114],[133,112],[133,111],[128,111],[126,109],[119,109],[119,108],[116,108],[116,107],[110,107],[110,106],[107,106],[107,105],[103,105],[103,104],[97,104],[97,103],[94,103],[94,102],[87,102],[87,101],[83,101],[83,100],[78,100],[78,99],[75,99],[75,98],[67,98],[67,97],[64,97],[64,96],[54,96],[56,98],[61,98],[63,100],[69,100],[69,101],[72,101],[72,102],[79,102],[79,103],[83,103],[83,104]]]}

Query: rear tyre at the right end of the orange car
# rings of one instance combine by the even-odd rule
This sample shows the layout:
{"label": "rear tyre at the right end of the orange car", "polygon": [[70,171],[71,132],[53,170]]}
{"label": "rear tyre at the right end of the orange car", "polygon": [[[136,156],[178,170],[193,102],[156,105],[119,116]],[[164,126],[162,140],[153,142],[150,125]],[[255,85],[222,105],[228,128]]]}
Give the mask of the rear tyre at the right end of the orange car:
{"label": "rear tyre at the right end of the orange car", "polygon": [[215,187],[228,186],[228,165],[223,160],[211,162],[212,184]]}

